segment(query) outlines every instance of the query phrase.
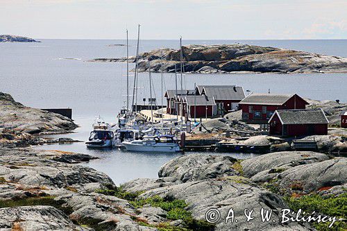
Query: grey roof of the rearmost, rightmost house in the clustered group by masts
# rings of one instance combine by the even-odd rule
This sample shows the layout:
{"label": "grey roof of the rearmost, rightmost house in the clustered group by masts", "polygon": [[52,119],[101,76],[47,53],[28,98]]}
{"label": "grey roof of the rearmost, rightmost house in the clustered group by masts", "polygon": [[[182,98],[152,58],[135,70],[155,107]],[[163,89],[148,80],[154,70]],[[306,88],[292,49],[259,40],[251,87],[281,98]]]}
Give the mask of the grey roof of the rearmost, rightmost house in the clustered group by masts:
{"label": "grey roof of the rearmost, rightmost house in the clustered group by masts", "polygon": [[219,100],[239,100],[244,99],[243,87],[235,85],[199,85],[198,91],[200,94],[205,92],[206,96],[214,97]]}

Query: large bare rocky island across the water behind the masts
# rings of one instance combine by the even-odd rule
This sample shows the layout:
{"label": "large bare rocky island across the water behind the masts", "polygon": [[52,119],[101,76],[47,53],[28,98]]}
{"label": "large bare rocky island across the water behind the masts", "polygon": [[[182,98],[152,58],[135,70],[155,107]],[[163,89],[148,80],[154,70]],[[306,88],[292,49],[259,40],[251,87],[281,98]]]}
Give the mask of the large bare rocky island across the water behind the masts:
{"label": "large bare rocky island across the water behind the masts", "polygon": [[[160,60],[162,57],[162,60]],[[135,57],[129,60],[135,62]],[[139,55],[138,71],[180,71],[180,49],[155,49]],[[247,44],[183,46],[185,72],[191,73],[346,73],[347,58]],[[126,58],[96,58],[92,62],[124,62]]]}

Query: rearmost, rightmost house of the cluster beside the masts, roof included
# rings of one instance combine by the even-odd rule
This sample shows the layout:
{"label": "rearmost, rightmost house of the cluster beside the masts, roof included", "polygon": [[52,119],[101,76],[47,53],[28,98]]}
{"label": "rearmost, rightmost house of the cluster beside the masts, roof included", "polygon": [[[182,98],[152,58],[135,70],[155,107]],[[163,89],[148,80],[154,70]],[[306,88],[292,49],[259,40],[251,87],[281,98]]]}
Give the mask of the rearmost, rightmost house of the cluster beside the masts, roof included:
{"label": "rearmost, rightmost house of the cluster beside the masts, roof included", "polygon": [[217,114],[226,114],[231,110],[238,110],[239,102],[244,99],[244,88],[235,85],[199,85],[196,94],[214,99]]}

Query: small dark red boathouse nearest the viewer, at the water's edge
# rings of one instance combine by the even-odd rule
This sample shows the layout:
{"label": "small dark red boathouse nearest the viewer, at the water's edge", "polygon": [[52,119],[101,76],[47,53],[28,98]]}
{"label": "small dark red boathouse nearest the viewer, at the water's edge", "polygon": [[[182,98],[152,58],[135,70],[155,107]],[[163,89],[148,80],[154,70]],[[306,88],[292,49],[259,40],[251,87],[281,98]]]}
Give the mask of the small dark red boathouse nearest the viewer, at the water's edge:
{"label": "small dark red boathouse nearest the viewer, at the water's edge", "polygon": [[327,135],[328,119],[321,109],[276,110],[269,119],[270,135]]}

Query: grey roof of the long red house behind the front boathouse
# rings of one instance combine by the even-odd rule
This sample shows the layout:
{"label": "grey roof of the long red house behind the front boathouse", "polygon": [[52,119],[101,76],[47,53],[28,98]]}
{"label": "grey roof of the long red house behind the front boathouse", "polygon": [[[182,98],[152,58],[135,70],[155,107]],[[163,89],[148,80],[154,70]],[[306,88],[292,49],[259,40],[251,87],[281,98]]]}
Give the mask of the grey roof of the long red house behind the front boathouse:
{"label": "grey roof of the long red house behind the front boathouse", "polygon": [[[296,94],[250,94],[239,104],[283,105]],[[300,96],[298,96],[300,97]],[[301,97],[300,97],[301,98]],[[308,104],[308,103],[307,103]]]}

